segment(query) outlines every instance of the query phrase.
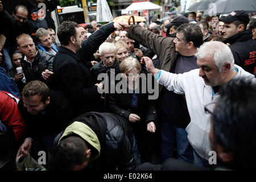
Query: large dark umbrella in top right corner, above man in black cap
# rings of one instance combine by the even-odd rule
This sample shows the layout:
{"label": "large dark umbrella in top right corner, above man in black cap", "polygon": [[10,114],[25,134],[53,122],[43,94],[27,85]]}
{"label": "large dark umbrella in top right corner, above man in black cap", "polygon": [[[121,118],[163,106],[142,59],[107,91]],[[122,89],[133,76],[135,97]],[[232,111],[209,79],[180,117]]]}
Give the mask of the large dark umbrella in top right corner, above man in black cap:
{"label": "large dark umbrella in top right corner, above man in black cap", "polygon": [[256,13],[255,0],[218,0],[209,9],[205,10],[204,15],[229,14],[234,10],[244,10],[247,13]]}

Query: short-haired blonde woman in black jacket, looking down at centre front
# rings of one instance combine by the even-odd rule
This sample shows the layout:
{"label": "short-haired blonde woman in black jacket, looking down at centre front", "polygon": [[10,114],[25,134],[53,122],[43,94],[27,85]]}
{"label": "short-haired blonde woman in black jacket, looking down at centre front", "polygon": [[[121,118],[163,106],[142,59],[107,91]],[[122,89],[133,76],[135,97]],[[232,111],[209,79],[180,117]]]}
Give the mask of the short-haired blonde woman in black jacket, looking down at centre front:
{"label": "short-haired blonde woman in black jacket, looking down at centre front", "polygon": [[[140,75],[147,71],[134,57],[127,57],[119,67],[127,81],[127,88],[124,89],[127,92],[110,94],[109,110],[126,118],[133,129],[142,162],[151,162],[156,148],[156,103],[148,99],[148,90],[141,92],[147,78]],[[147,88],[147,85],[143,88],[145,86]]]}

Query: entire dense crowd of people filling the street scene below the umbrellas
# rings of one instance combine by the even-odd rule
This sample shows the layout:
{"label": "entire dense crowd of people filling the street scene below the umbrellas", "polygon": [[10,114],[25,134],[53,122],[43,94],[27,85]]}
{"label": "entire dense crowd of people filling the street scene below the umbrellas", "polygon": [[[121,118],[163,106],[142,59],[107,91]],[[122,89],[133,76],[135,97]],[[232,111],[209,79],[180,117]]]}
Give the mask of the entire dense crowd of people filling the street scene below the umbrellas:
{"label": "entire dense crowd of people filling the street scene below the umbrellas", "polygon": [[251,14],[56,30],[58,4],[0,1],[0,170],[255,169]]}

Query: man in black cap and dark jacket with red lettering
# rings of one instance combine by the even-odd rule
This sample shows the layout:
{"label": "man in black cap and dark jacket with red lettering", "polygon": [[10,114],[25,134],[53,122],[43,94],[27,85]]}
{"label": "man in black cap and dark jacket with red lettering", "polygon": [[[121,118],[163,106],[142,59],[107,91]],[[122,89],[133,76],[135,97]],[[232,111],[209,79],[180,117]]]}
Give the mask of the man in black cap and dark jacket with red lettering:
{"label": "man in black cap and dark jacket with red lettering", "polygon": [[220,21],[224,22],[224,43],[230,44],[235,64],[255,75],[256,42],[252,39],[251,30],[246,30],[250,22],[248,14],[245,11],[233,11]]}

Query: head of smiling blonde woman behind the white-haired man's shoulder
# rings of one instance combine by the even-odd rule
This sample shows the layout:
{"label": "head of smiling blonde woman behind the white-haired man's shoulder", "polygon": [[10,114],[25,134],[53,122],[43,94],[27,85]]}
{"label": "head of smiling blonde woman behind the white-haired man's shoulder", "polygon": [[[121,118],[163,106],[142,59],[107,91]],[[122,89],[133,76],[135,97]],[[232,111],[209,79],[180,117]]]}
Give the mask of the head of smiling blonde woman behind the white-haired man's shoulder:
{"label": "head of smiling blonde woman behind the white-haired man's shoulder", "polygon": [[122,40],[115,42],[115,50],[115,58],[117,59],[118,63],[121,63],[129,56],[128,45]]}

